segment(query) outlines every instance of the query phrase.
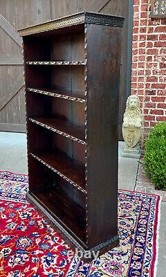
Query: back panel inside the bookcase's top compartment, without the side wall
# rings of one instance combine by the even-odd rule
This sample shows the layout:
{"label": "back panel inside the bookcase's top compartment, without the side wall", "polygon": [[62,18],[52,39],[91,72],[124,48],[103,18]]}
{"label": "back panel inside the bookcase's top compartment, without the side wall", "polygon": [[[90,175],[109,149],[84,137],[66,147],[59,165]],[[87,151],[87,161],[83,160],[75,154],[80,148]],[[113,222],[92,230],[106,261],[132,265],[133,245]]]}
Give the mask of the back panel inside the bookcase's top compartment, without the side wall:
{"label": "back panel inside the bookcase's top compartment, without the side wall", "polygon": [[84,33],[55,37],[51,42],[50,60],[84,60]]}

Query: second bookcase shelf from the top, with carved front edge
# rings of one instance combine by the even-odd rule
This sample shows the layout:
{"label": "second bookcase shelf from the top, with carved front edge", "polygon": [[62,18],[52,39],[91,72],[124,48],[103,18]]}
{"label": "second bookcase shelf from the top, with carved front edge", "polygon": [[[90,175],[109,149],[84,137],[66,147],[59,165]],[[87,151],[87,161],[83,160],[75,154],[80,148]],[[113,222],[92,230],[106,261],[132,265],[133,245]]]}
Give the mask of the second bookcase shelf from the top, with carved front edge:
{"label": "second bookcase shelf from the top, with carved front edge", "polygon": [[77,102],[85,102],[85,96],[84,93],[75,93],[73,91],[69,90],[60,90],[60,89],[46,89],[46,88],[33,88],[33,87],[28,87],[27,91],[33,91],[36,93],[41,93],[45,94],[48,96],[53,96],[57,98],[62,98],[66,100],[71,100],[71,101],[77,101]]}

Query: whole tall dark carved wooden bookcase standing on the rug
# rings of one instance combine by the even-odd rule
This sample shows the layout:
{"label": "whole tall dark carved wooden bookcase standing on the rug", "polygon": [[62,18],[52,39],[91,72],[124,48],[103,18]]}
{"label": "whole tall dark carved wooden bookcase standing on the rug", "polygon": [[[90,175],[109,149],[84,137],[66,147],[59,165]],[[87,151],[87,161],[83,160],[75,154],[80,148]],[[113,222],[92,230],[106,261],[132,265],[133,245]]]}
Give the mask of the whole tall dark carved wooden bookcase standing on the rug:
{"label": "whole tall dark carved wooden bookcase standing on the rug", "polygon": [[124,19],[93,12],[19,30],[29,193],[71,247],[118,238],[118,99]]}

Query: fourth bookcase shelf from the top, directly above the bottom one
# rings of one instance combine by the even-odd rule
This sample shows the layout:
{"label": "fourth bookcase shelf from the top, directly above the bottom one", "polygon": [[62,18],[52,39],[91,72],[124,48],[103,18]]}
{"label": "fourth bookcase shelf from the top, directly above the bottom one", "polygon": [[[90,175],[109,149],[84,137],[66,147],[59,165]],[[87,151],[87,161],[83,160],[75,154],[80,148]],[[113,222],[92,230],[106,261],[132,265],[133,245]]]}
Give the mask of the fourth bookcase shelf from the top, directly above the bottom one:
{"label": "fourth bookcase shelf from the top, directly above the bottom one", "polygon": [[71,157],[62,154],[58,150],[54,152],[35,152],[30,153],[35,159],[56,172],[59,176],[66,179],[70,184],[81,190],[85,190],[85,168],[81,163]]}

